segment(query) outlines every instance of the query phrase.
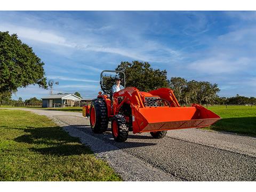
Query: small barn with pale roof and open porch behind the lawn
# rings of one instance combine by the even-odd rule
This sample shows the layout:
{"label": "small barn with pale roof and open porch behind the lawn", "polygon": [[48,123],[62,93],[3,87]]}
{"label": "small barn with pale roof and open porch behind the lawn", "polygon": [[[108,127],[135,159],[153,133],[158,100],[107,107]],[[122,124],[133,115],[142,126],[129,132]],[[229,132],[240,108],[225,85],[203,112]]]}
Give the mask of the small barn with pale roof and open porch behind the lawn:
{"label": "small barn with pale roof and open porch behind the lawn", "polygon": [[82,98],[75,94],[51,94],[42,99],[42,107],[73,107],[80,106]]}

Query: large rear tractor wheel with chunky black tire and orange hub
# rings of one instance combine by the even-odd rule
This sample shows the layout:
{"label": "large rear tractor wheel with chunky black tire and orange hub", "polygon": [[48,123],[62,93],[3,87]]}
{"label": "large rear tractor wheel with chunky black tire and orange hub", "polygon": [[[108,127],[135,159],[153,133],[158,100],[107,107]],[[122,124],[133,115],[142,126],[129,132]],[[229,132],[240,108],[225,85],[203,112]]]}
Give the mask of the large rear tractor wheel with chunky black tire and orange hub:
{"label": "large rear tractor wheel with chunky black tire and orange hub", "polygon": [[94,133],[103,133],[108,128],[107,106],[103,99],[94,99],[90,108],[90,125]]}

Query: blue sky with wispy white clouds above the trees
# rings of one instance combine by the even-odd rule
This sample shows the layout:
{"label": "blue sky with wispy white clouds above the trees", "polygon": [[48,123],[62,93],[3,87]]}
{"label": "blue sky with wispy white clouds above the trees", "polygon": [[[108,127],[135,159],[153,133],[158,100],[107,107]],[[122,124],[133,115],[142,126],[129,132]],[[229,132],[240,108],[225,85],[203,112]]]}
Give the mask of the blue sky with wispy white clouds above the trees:
{"label": "blue sky with wispy white clouds above the trees", "polygon": [[[102,70],[138,60],[217,83],[221,97],[256,97],[254,11],[0,11],[0,31],[33,47],[54,93],[95,98]],[[30,85],[12,98],[48,94]]]}

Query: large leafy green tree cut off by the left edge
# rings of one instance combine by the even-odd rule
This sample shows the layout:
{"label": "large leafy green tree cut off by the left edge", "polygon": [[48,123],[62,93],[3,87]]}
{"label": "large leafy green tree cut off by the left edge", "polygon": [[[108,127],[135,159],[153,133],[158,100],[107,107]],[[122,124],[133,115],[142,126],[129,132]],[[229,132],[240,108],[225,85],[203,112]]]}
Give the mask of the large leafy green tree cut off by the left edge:
{"label": "large leafy green tree cut off by the left edge", "polygon": [[44,63],[17,34],[0,31],[0,93],[38,84],[47,88]]}

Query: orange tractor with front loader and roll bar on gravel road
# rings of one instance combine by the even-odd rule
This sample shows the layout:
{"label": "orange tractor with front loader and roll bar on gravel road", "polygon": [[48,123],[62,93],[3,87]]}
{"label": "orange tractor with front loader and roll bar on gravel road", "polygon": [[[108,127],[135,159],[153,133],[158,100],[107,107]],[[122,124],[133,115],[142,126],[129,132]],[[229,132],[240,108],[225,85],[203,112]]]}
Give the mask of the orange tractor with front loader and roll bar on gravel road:
{"label": "orange tractor with front loader and roll bar on gravel road", "polygon": [[124,89],[106,94],[100,81],[103,94],[99,92],[91,106],[83,107],[83,115],[90,116],[90,125],[94,133],[103,133],[111,121],[111,131],[115,141],[123,142],[133,133],[149,132],[153,138],[165,137],[167,130],[206,127],[217,122],[220,117],[201,105],[180,107],[173,91],[161,88],[149,92],[139,91],[135,87],[125,88],[123,71],[103,70],[123,74]]}

